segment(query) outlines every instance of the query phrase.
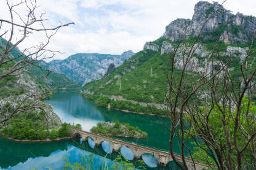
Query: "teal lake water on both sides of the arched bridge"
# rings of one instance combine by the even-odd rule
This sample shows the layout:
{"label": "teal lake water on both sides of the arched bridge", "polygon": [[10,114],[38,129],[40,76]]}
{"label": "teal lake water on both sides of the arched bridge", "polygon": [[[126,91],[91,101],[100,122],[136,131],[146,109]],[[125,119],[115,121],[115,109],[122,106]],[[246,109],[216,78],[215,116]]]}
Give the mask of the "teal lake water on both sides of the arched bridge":
{"label": "teal lake water on both sides of the arched bridge", "polygon": [[[157,117],[97,107],[94,102],[72,91],[59,91],[46,102],[52,104],[54,112],[63,122],[79,123],[82,125],[83,130],[89,131],[98,122],[126,122],[132,126],[138,126],[142,131],[146,131],[148,137],[146,139],[118,137],[119,139],[148,147],[169,150],[169,131]],[[167,118],[162,118],[162,120],[167,125],[170,125]],[[178,142],[178,139],[176,141],[174,149],[175,152],[179,153],[180,142]],[[82,156],[88,157],[91,153],[94,153],[94,160],[97,162],[95,169],[98,169],[106,153],[102,147],[91,149],[87,142],[80,144],[79,140],[69,140],[31,144],[7,141],[0,137],[0,169],[46,169],[46,167],[50,167],[58,170],[63,169],[64,158],[67,158],[68,155],[71,155],[69,157],[70,162],[79,162]],[[114,163],[113,160],[117,155],[118,153],[113,152],[106,156],[105,160],[108,162],[108,166]],[[144,159],[154,164],[153,158],[147,156],[145,155]],[[136,161],[134,160],[134,163]],[[170,163],[167,168],[158,167],[153,169],[175,169],[172,166],[172,163]],[[147,169],[152,168],[147,167]]]}

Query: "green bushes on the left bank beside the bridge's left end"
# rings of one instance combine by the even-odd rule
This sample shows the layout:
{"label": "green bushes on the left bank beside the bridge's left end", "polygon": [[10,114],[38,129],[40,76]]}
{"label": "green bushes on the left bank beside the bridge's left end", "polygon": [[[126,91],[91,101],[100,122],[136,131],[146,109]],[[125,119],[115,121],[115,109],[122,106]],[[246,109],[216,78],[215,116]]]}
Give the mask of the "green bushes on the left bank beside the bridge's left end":
{"label": "green bushes on the left bank beside the bridge's left end", "polygon": [[[10,104],[7,103],[4,108],[9,108],[9,106]],[[70,125],[63,123],[59,129],[52,128],[48,131],[42,113],[38,114],[36,110],[32,109],[8,120],[6,126],[1,131],[5,136],[14,139],[43,140],[47,138],[71,137],[70,126],[81,129],[79,124]]]}

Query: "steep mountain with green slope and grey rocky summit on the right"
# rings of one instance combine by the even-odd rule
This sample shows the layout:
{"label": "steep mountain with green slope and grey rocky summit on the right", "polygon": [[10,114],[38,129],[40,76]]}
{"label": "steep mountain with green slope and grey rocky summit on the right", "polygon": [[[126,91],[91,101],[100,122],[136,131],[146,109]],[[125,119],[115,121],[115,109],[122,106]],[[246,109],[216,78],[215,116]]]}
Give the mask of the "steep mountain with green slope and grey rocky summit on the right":
{"label": "steep mountain with green slope and grey rocky summit on the right", "polygon": [[[162,37],[153,42],[146,42],[142,51],[129,58],[122,66],[114,69],[103,79],[94,80],[82,87],[83,93],[109,95],[111,98],[132,99],[147,103],[166,103],[165,94],[168,91],[167,71],[170,71],[168,54],[174,53],[178,41],[184,36],[185,23],[187,26],[187,41],[190,50],[191,43],[199,34],[202,24],[212,12],[222,7],[217,2],[199,1],[194,7],[192,20],[179,18],[166,26]],[[219,55],[223,63],[231,60],[230,75],[237,80],[239,74],[238,63],[244,61],[250,41],[256,29],[256,18],[242,14],[231,14],[230,10],[223,9],[207,21],[199,38],[201,44],[194,52],[186,69],[196,68],[199,72],[209,72],[212,67],[218,69],[218,64],[209,64],[210,54],[214,43],[218,43]],[[175,60],[174,77],[180,75],[183,68],[182,53],[185,44],[182,42],[177,51]],[[253,46],[253,51],[256,45]],[[186,52],[188,53],[188,52]],[[248,61],[250,68],[256,67],[255,56]],[[253,69],[252,69],[253,70]],[[187,76],[190,76],[188,74]],[[177,79],[174,79],[174,83]]]}

